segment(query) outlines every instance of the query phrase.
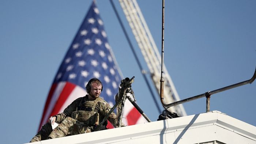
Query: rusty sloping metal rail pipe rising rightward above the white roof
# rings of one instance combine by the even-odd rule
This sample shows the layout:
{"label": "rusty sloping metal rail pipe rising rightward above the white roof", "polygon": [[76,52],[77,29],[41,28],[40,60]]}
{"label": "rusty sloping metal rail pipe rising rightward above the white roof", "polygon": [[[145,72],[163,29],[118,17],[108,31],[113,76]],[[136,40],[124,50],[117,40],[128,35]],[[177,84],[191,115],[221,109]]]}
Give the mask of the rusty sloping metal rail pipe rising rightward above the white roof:
{"label": "rusty sloping metal rail pipe rising rightward above the white roof", "polygon": [[185,102],[193,101],[195,99],[199,99],[199,98],[203,98],[203,97],[210,97],[211,95],[216,94],[218,92],[226,91],[226,90],[229,90],[231,88],[239,87],[239,86],[242,86],[242,85],[245,85],[245,84],[248,84],[248,83],[251,84],[255,80],[255,78],[256,78],[256,67],[255,67],[255,71],[254,71],[254,74],[253,74],[252,78],[249,79],[249,80],[245,80],[244,82],[232,84],[230,86],[219,88],[219,89],[213,90],[213,91],[208,91],[204,94],[192,96],[190,98],[183,99],[181,101],[177,101],[177,102],[173,102],[173,103],[169,103],[169,104],[164,103],[164,99],[163,99],[163,97],[161,97],[161,102],[162,102],[163,107],[169,108],[169,107],[172,107],[172,106],[180,105],[180,104],[185,103]]}

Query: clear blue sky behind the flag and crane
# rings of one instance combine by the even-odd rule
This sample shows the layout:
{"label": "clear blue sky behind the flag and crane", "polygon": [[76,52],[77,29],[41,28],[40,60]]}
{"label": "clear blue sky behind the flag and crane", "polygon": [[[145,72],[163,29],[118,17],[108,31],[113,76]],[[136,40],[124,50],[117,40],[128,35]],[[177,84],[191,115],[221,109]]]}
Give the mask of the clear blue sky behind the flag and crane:
{"label": "clear blue sky behind the flag and crane", "polygon": [[[0,143],[27,143],[37,132],[53,78],[91,2],[0,1]],[[148,70],[120,4],[114,3]],[[160,51],[162,1],[138,4]],[[110,2],[98,0],[97,6],[124,77],[135,76],[132,88],[138,105],[156,121],[158,110]],[[253,0],[165,1],[164,61],[181,99],[252,77],[255,6]],[[256,82],[212,95],[210,109],[255,126],[255,100]],[[204,113],[206,99],[184,107],[188,115]]]}

